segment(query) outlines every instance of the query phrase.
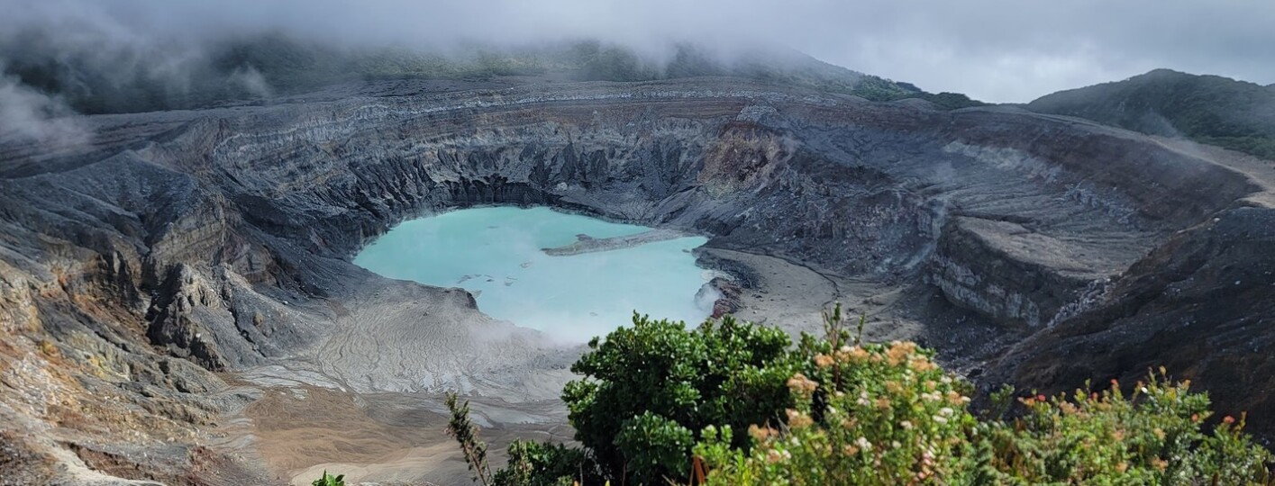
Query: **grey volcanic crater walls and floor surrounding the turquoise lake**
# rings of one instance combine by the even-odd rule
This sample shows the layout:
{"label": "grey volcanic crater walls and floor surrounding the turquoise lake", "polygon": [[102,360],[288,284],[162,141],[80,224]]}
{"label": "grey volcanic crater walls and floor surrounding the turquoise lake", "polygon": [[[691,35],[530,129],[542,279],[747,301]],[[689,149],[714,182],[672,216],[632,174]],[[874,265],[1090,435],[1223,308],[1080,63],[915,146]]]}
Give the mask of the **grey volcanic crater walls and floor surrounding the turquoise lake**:
{"label": "grey volcanic crater walls and floor surrounding the turquoise lake", "polygon": [[1270,342],[1275,170],[1220,149],[734,78],[372,81],[85,121],[89,145],[0,145],[0,331],[26,337],[0,341],[20,452],[0,466],[36,482],[464,481],[453,389],[493,450],[569,439],[579,346],[352,263],[405,219],[486,205],[705,235],[738,317],[817,331],[841,302],[980,385],[1207,349],[1167,364],[1275,412],[1225,383],[1271,361],[1216,342]]}

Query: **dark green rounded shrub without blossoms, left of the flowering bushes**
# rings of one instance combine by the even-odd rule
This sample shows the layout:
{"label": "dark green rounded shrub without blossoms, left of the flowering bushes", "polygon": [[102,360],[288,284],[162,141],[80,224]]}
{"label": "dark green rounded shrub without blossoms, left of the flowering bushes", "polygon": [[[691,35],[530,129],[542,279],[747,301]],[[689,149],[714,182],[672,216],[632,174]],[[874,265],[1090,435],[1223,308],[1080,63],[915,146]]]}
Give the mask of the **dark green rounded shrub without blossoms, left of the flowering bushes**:
{"label": "dark green rounded shrub without blossoms, left of the flowering bushes", "polygon": [[608,477],[648,485],[686,477],[705,426],[782,420],[792,405],[784,382],[799,365],[790,342],[778,328],[732,318],[687,330],[634,316],[631,327],[590,341],[571,366],[584,375],[562,392],[575,438]]}

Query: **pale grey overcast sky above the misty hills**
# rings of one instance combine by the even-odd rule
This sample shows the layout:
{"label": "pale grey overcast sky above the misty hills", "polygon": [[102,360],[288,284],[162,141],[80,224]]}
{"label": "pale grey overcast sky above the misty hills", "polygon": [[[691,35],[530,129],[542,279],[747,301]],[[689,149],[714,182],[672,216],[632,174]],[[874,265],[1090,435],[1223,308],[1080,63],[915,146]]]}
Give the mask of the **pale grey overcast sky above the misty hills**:
{"label": "pale grey overcast sky above the misty hills", "polygon": [[48,25],[92,46],[196,46],[263,29],[421,47],[599,37],[658,52],[668,39],[770,42],[989,102],[1155,67],[1275,83],[1271,0],[0,0],[0,31]]}

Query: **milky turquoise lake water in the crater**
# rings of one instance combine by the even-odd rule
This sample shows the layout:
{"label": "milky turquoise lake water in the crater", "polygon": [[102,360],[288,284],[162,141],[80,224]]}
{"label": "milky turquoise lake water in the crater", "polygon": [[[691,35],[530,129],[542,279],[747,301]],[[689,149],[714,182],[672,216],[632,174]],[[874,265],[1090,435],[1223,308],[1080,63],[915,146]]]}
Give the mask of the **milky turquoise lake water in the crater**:
{"label": "milky turquoise lake water in the crater", "polygon": [[547,256],[584,233],[594,238],[649,230],[547,207],[479,207],[405,221],[368,244],[354,263],[376,274],[477,295],[487,314],[571,341],[629,324],[636,309],[697,324],[705,272],[691,248],[701,237],[576,256]]}

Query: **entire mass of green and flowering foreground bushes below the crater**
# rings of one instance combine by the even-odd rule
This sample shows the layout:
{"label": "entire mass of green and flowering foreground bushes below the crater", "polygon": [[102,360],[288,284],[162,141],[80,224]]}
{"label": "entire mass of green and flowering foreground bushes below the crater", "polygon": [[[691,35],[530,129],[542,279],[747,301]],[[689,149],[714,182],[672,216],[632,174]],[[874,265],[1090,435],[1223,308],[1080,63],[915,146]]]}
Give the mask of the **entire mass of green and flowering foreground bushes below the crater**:
{"label": "entire mass of green and flowering foreground bushes below the crater", "polygon": [[[635,317],[594,340],[564,392],[579,448],[515,441],[483,485],[1267,485],[1275,457],[1215,420],[1164,370],[986,412],[973,387],[910,342],[863,344],[839,309],[796,346],[725,318],[687,330]],[[862,321],[861,321],[862,328]],[[449,433],[484,450],[468,403]]]}

